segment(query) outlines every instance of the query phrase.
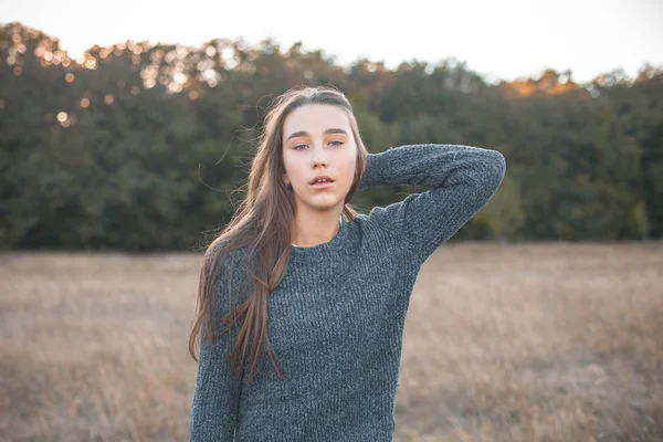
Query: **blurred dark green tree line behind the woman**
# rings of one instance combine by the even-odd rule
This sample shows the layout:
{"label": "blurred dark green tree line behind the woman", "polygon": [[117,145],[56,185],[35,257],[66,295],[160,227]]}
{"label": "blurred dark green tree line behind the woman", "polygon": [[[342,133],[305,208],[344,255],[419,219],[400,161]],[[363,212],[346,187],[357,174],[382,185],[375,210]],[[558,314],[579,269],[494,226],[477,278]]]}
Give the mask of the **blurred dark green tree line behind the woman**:
{"label": "blurred dark green tree line behind the woman", "polygon": [[[230,220],[270,99],[332,84],[370,151],[497,149],[508,171],[452,241],[632,241],[663,233],[663,70],[578,84],[572,72],[492,83],[448,57],[344,66],[302,43],[126,41],[71,59],[0,27],[0,248],[192,250]],[[424,188],[373,188],[360,210]]]}

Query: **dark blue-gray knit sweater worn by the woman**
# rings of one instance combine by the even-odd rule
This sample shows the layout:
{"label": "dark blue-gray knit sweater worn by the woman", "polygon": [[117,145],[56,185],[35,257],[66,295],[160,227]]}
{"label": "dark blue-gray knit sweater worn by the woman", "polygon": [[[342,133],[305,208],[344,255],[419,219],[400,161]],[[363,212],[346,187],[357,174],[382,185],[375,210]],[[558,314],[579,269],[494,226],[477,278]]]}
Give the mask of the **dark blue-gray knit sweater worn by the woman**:
{"label": "dark blue-gray knit sweater worn by the woman", "polygon": [[[462,145],[369,154],[360,189],[430,189],[341,219],[329,242],[292,248],[267,298],[269,338],[285,380],[267,356],[252,385],[248,364],[244,379],[235,380],[229,335],[214,341],[213,358],[201,340],[190,441],[392,441],[403,326],[420,267],[492,198],[505,171],[501,152]],[[229,302],[224,269],[215,284],[218,314]],[[234,275],[241,272],[232,276],[241,284]]]}

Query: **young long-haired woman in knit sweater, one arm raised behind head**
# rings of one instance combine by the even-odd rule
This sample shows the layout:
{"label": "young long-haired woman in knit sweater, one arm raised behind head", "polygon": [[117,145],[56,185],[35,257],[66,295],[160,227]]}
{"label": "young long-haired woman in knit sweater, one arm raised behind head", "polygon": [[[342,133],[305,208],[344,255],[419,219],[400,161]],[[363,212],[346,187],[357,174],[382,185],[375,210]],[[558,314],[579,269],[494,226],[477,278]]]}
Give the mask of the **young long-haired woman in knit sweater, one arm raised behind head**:
{"label": "young long-haired woman in knit sweater, one arm raised behind head", "polygon": [[[204,255],[190,440],[391,441],[418,272],[505,170],[501,152],[478,147],[369,154],[343,93],[280,96],[246,198]],[[348,203],[394,185],[430,189],[369,214]]]}

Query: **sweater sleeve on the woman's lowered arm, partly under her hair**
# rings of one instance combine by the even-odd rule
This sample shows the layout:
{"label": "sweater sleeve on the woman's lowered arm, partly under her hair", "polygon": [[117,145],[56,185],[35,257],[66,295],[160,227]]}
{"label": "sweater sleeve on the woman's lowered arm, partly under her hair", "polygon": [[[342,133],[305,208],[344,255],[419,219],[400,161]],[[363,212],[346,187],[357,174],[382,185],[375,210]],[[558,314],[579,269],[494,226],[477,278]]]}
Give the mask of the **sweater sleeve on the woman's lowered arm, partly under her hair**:
{"label": "sweater sleeve on the woman's lowered arm, partly under her hair", "polygon": [[[214,334],[221,328],[220,318],[229,311],[228,299],[221,294],[221,277],[214,284]],[[219,318],[219,320],[217,319]],[[224,326],[223,326],[224,327]],[[190,419],[190,442],[232,442],[238,423],[242,380],[230,371],[229,355],[236,338],[236,327],[221,335],[212,346],[206,339],[207,320],[202,322],[200,334],[200,357],[193,389]],[[230,335],[230,336],[229,336]]]}

